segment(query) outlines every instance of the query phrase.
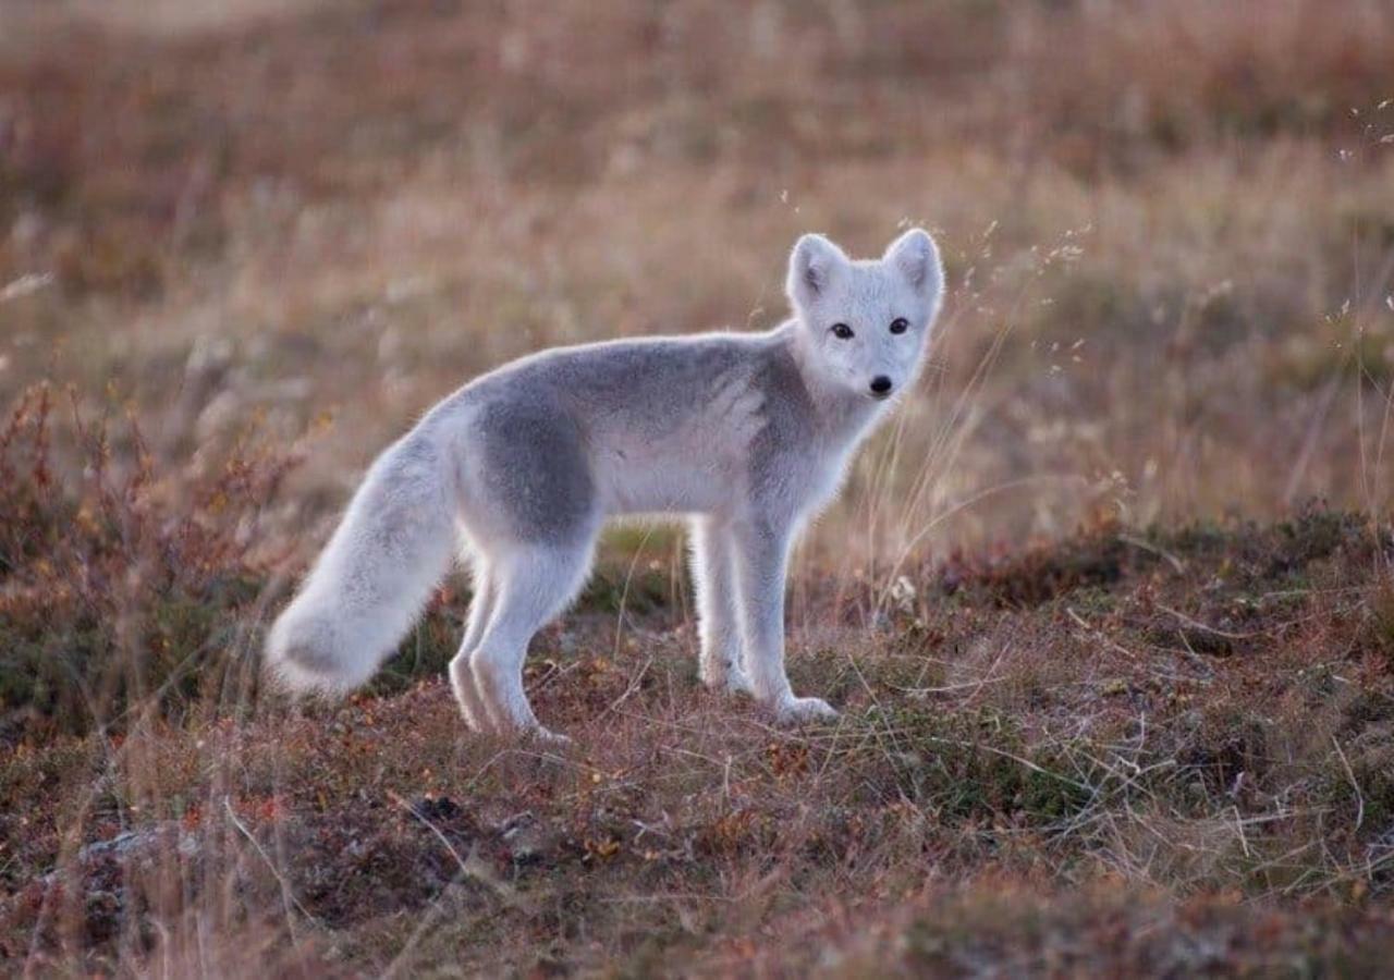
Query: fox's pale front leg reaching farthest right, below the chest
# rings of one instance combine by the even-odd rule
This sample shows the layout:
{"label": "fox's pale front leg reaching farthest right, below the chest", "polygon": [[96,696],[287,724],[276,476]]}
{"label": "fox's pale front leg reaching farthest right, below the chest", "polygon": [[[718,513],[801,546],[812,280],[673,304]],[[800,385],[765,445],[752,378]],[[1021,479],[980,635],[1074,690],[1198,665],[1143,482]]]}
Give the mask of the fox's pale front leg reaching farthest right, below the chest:
{"label": "fox's pale front leg reaching farthest right, below the chest", "polygon": [[746,669],[756,698],[781,723],[836,718],[817,697],[795,697],[783,665],[783,595],[792,528],[769,520],[735,527],[736,583]]}

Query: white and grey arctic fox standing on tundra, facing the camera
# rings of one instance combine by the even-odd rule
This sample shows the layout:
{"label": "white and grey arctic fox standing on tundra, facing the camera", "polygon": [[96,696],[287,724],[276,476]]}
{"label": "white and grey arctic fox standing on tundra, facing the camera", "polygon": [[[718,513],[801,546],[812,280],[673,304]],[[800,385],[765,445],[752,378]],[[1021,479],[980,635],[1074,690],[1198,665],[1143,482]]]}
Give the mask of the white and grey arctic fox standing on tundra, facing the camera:
{"label": "white and grey arctic fox standing on tundra, facing the camera", "polygon": [[701,679],[781,722],[835,717],[785,675],[789,551],[914,382],[944,273],[920,229],[870,261],[806,234],[786,289],[793,318],[765,333],[548,350],[436,404],[372,464],[276,620],[273,673],[293,690],[362,684],[463,555],[474,601],[450,682],[466,723],[559,737],[523,690],[528,641],[580,591],[608,517],[682,514]]}

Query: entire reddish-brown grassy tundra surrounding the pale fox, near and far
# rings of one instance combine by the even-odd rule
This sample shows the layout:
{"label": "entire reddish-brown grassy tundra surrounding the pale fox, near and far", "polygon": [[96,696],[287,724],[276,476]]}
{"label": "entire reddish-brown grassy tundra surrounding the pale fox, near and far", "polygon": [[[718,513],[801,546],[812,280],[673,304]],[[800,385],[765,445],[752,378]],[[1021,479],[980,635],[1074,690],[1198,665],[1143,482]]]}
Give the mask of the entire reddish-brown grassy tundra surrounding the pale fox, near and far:
{"label": "entire reddish-brown grassy tundra surrounding the pale fox, near and far", "polygon": [[[644,528],[538,640],[574,758],[464,739],[463,581],[364,698],[258,690],[435,400],[906,223],[933,364],[792,585],[843,726],[693,690]],[[0,958],[1377,965],[1391,385],[1384,0],[0,0]]]}

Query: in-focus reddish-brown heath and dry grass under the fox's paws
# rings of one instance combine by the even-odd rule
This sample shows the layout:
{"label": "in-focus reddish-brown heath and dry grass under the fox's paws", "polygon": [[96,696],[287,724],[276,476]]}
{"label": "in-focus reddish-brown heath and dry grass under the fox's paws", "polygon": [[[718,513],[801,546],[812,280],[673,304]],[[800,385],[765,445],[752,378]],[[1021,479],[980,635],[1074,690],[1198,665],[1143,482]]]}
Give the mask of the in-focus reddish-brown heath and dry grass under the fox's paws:
{"label": "in-focus reddish-brown heath and dry grass under the fox's paws", "polygon": [[[31,445],[10,443],[31,460],[10,485],[42,485]],[[29,499],[47,527],[54,505]],[[144,491],[120,500],[118,526],[149,514]],[[1368,969],[1388,952],[1394,641],[1372,572],[1394,542],[1363,517],[1108,521],[917,565],[870,630],[835,577],[807,580],[810,605],[843,616],[796,631],[795,683],[845,715],[803,732],[700,687],[682,588],[641,574],[620,606],[602,577],[528,668],[539,714],[576,737],[558,753],[461,736],[439,677],[466,605],[449,591],[369,694],[259,693],[248,597],[275,587],[219,551],[237,514],[195,514],[197,545],[166,523],[123,553],[216,558],[247,579],[241,601],[202,577],[102,585],[114,544],[75,523],[89,588],[35,634],[96,619],[105,645],[70,666],[84,691],[124,687],[21,698],[32,717],[0,765],[15,963],[861,976]],[[199,587],[201,622],[231,631],[176,637],[205,652],[187,673],[160,630]]]}

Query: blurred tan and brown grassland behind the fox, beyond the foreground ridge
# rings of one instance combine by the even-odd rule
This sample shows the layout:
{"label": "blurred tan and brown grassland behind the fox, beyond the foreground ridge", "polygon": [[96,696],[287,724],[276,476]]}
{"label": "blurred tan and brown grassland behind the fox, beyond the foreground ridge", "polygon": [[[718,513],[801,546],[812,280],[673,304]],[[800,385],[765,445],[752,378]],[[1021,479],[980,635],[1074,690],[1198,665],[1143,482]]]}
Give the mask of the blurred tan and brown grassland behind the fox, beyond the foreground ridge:
{"label": "blurred tan and brown grassland behind the fox, beyond the foreground ridge", "polygon": [[171,496],[293,446],[277,553],[474,374],[771,326],[797,234],[907,223],[948,265],[934,361],[804,560],[1387,505],[1391,3],[0,17],[0,403],[53,385],[59,473],[70,417],[130,415],[112,466]]}

